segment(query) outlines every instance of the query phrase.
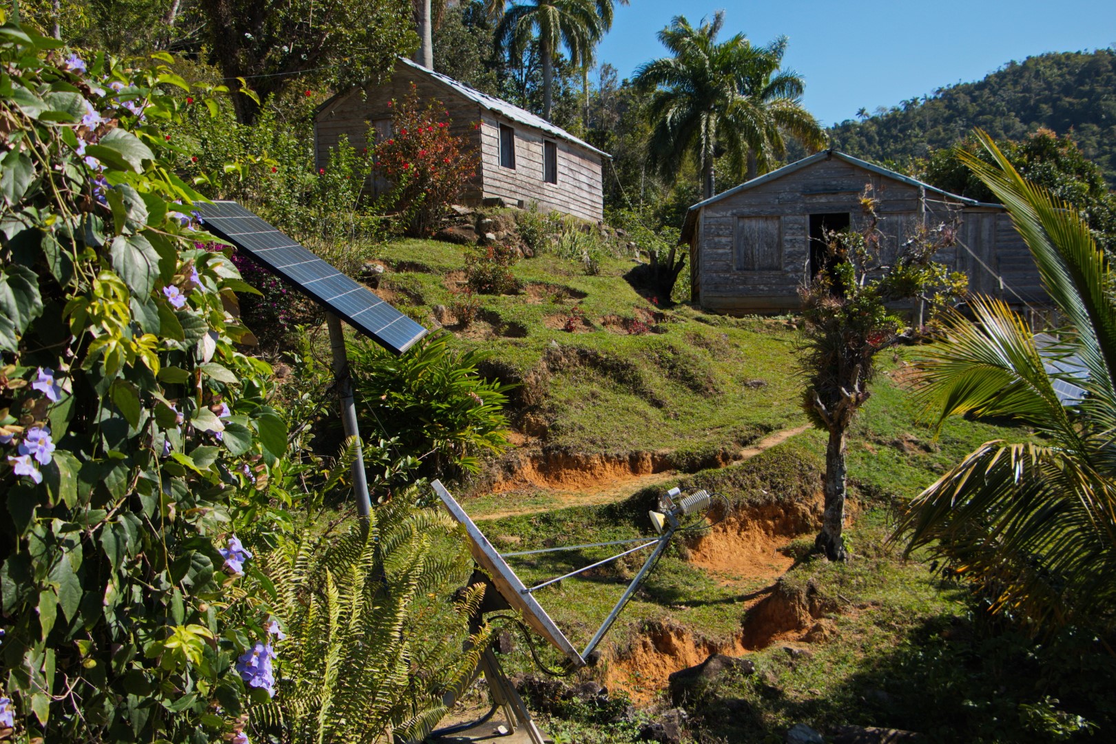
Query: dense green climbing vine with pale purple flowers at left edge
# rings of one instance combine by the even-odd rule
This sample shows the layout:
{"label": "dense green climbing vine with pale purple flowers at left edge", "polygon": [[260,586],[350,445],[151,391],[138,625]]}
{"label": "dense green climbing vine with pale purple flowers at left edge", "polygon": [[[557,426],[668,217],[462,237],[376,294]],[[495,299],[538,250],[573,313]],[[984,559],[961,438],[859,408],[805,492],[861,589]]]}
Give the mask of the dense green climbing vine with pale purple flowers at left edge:
{"label": "dense green climbing vine with pale purple flowers at left edge", "polygon": [[163,129],[219,90],[59,46],[0,26],[0,696],[21,741],[211,741],[261,629],[229,506],[287,448]]}

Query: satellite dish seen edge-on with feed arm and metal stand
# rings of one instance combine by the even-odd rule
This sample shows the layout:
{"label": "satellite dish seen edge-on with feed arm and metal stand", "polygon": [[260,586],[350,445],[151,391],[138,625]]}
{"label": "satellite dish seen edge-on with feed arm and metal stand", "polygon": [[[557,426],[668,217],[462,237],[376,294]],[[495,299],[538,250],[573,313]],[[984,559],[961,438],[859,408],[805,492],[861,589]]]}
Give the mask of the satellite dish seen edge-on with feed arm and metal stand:
{"label": "satellite dish seen edge-on with feed arm and metal stand", "polygon": [[[567,665],[573,669],[586,666],[586,659],[593,658],[590,655],[596,649],[602,638],[604,638],[605,634],[608,632],[608,629],[612,627],[613,622],[616,621],[616,618],[619,616],[620,610],[624,609],[624,606],[627,605],[628,600],[632,599],[633,595],[635,595],[636,590],[639,588],[639,584],[643,582],[644,578],[647,576],[647,573],[651,572],[651,570],[658,562],[660,557],[663,554],[663,551],[666,550],[666,545],[670,542],[671,538],[674,535],[675,531],[680,529],[682,530],[692,529],[692,528],[682,528],[681,520],[692,514],[706,512],[712,503],[712,495],[710,495],[705,491],[696,491],[675,503],[674,500],[677,496],[680,496],[682,492],[679,489],[671,489],[671,491],[662,500],[660,506],[661,511],[650,512],[652,524],[655,526],[655,531],[658,533],[657,538],[635,538],[632,540],[614,540],[610,542],[597,542],[597,543],[589,543],[581,545],[566,545],[560,548],[543,548],[540,550],[523,550],[511,553],[500,553],[492,545],[492,543],[489,542],[488,538],[485,538],[483,533],[481,533],[477,524],[473,523],[472,519],[469,518],[469,514],[465,513],[465,510],[461,508],[461,504],[459,504],[456,500],[452,495],[450,495],[450,492],[446,491],[445,486],[442,485],[441,481],[434,481],[433,483],[431,483],[431,486],[434,489],[434,492],[442,500],[443,505],[446,508],[446,510],[449,510],[450,514],[452,514],[455,520],[458,520],[464,525],[465,534],[469,537],[470,552],[472,553],[473,560],[477,562],[477,564],[481,569],[483,569],[483,571],[488,573],[488,576],[490,577],[489,584],[491,586],[491,588],[496,589],[496,591],[500,595],[500,599],[502,599],[503,602],[508,605],[508,607],[510,607],[513,610],[518,610],[520,615],[522,615],[523,621],[527,622],[527,625],[529,625],[540,636],[546,638],[551,646],[561,651],[566,656]],[[627,550],[624,550],[623,552],[619,552],[613,555],[612,558],[606,558],[605,560],[597,561],[589,566],[585,566],[575,571],[570,571],[569,573],[565,573],[560,577],[549,579],[541,583],[535,584],[533,587],[525,586],[523,582],[520,580],[520,578],[516,576],[516,572],[511,570],[511,567],[508,566],[508,562],[504,560],[506,558],[511,558],[516,555],[533,555],[538,553],[558,552],[564,550],[581,550],[585,548],[603,548],[608,545],[623,545],[632,543],[641,543],[641,544],[636,545],[635,548],[629,548]],[[624,593],[620,596],[619,600],[617,600],[616,605],[608,613],[608,617],[606,617],[605,621],[600,624],[600,627],[597,629],[597,632],[594,634],[593,638],[585,647],[585,650],[578,653],[578,650],[574,647],[574,645],[569,641],[569,639],[566,638],[566,635],[558,628],[557,625],[555,625],[554,620],[550,619],[550,616],[547,615],[547,611],[542,609],[542,606],[539,605],[538,601],[535,599],[533,592],[538,591],[539,589],[542,589],[543,587],[548,587],[558,581],[561,581],[562,579],[576,576],[578,573],[584,573],[589,569],[603,566],[605,563],[614,561],[629,553],[637,552],[645,548],[651,548],[652,545],[654,545],[654,550],[647,557],[647,560],[644,561],[643,567],[635,574],[635,578],[633,578],[632,581],[628,583],[627,588],[624,590]],[[488,599],[489,599],[488,592],[485,592],[485,603],[488,603]],[[474,621],[479,624],[481,619],[475,618]],[[482,673],[484,677],[489,680],[489,689],[492,690],[493,693],[494,705],[503,707],[504,711],[507,712],[508,723],[511,725],[512,733],[516,731],[517,727],[522,727],[525,729],[525,733],[527,734],[527,738],[521,741],[528,741],[531,744],[543,744],[545,740],[542,738],[542,734],[539,733],[539,729],[535,726],[535,723],[531,721],[530,714],[523,706],[522,700],[519,699],[519,695],[516,693],[514,686],[503,675],[503,670],[500,668],[500,663],[497,659],[496,655],[492,653],[491,647],[485,648],[483,654],[481,655],[479,669],[474,671],[473,675],[469,678],[470,683],[472,679],[477,677],[478,673]],[[464,689],[468,688],[468,686],[469,686],[468,684],[462,686],[461,692],[464,692]],[[450,697],[455,697],[455,695]],[[454,700],[452,699],[446,699],[448,707],[451,706]],[[487,718],[488,716],[485,716],[485,718],[482,718],[482,723],[487,721]],[[454,734],[458,734],[459,728],[460,727],[454,727]],[[474,726],[468,733],[466,732],[460,732],[460,733],[465,734],[468,736],[472,735],[474,732],[475,734],[482,734],[479,726]],[[440,732],[434,732],[434,735],[437,735]],[[455,738],[453,741],[473,741],[473,740]]]}

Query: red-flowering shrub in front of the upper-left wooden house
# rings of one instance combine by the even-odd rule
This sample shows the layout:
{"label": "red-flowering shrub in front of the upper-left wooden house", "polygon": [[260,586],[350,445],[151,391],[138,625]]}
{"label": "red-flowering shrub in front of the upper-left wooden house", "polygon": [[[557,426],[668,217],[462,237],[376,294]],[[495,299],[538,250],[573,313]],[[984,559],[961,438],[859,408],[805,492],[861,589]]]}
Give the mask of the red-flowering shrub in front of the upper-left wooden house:
{"label": "red-flowering shrub in front of the upper-left wooden house", "polygon": [[478,157],[463,137],[450,134],[449,112],[439,100],[421,105],[413,83],[392,106],[393,135],[376,145],[376,167],[398,186],[394,199],[407,234],[425,238],[477,175]]}

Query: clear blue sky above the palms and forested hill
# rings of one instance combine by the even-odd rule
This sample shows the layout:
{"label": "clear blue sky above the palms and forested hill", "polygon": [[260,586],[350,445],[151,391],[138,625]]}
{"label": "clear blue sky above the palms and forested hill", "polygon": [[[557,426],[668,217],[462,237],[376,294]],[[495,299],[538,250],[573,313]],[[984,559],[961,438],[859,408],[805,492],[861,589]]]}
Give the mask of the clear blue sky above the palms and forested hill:
{"label": "clear blue sky above the palms and forested hill", "polygon": [[786,67],[806,78],[807,108],[824,124],[977,80],[1004,62],[1045,51],[1116,45],[1116,0],[631,0],[617,7],[598,59],[619,77],[666,54],[655,35],[683,15],[693,25],[725,11],[721,39],[789,38]]}

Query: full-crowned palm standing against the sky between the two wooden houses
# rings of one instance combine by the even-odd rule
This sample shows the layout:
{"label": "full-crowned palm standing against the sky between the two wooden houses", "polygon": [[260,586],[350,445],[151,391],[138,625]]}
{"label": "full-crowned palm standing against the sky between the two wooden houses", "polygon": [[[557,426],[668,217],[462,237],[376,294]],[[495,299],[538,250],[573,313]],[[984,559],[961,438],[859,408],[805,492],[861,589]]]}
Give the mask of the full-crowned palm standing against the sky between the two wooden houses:
{"label": "full-crowned palm standing against the sky between the two wooden houses", "polygon": [[723,23],[723,11],[696,29],[675,17],[658,32],[673,57],[647,62],[635,75],[638,86],[655,90],[648,160],[674,181],[685,156],[696,152],[705,199],[713,195],[713,163],[721,151],[733,177],[754,177],[786,154],[787,135],[812,149],[827,142],[801,105],[801,76],[780,69],[787,39],[753,47],[737,33],[719,44]]}

